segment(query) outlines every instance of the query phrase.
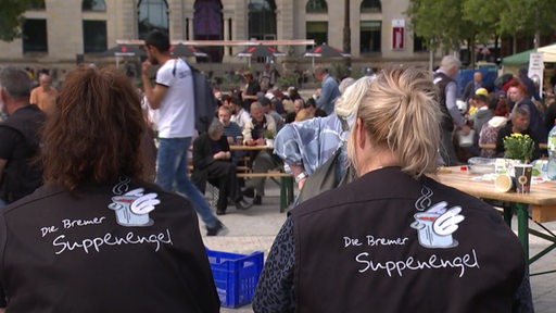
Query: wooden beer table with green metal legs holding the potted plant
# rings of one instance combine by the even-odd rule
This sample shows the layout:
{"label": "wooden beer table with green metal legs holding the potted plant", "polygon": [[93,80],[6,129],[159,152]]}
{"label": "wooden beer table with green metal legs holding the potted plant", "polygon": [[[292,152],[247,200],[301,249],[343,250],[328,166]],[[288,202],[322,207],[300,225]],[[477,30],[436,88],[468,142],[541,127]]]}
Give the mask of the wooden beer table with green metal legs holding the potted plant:
{"label": "wooden beer table with green metal legs holding the potted plant", "polygon": [[[523,246],[523,251],[527,260],[529,260],[529,264],[541,259],[543,255],[556,248],[556,235],[542,226],[542,223],[544,222],[556,221],[556,181],[533,184],[531,186],[530,193],[501,192],[494,189],[494,181],[473,180],[473,177],[481,175],[470,174],[462,168],[463,167],[458,166],[442,167],[439,170],[437,175],[432,175],[431,177],[444,185],[481,199],[498,200],[510,203],[511,205],[505,205],[504,216],[506,223],[510,225],[513,211],[516,211],[518,217],[518,237],[519,241],[521,241],[521,245]],[[543,227],[547,234],[529,228],[529,210],[531,211],[531,218]],[[530,234],[552,242],[551,246],[531,259],[529,259]],[[544,273],[552,272],[556,271]]]}

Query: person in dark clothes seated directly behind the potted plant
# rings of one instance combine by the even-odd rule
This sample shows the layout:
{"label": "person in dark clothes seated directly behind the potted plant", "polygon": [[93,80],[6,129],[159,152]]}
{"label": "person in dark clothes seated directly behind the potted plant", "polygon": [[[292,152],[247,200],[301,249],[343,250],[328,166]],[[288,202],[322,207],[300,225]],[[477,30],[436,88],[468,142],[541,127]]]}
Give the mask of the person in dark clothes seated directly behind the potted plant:
{"label": "person in dark clothes seated directly behind the potted plant", "polygon": [[[525,107],[514,108],[511,112],[510,121],[498,130],[498,136],[496,137],[496,155],[500,158],[504,156],[504,138],[510,136],[511,134],[521,134],[529,135],[531,139],[534,141],[534,151],[533,151],[533,160],[536,160],[541,156],[541,149],[539,148],[539,138],[536,138],[531,130],[529,125],[529,110]],[[530,160],[532,161],[532,160]]]}

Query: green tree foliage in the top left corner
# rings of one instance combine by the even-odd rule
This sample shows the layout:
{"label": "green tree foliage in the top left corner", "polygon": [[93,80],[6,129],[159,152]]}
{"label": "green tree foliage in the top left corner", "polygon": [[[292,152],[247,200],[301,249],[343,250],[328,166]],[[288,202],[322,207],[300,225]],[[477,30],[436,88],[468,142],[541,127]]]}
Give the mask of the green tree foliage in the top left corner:
{"label": "green tree foliage in the top left corner", "polygon": [[45,8],[43,0],[2,0],[0,40],[12,41],[21,36],[22,14],[28,9]]}

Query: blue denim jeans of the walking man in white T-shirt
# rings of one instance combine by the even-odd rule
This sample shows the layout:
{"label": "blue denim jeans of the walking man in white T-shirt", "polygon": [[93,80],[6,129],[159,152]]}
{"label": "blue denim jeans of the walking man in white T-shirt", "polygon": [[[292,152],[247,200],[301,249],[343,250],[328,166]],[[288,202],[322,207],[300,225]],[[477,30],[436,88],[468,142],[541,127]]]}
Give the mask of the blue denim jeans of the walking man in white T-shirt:
{"label": "blue denim jeans of the walking man in white T-shirt", "polygon": [[187,176],[187,153],[191,137],[160,138],[156,155],[155,183],[162,189],[187,196],[206,227],[215,227],[217,220],[208,203]]}

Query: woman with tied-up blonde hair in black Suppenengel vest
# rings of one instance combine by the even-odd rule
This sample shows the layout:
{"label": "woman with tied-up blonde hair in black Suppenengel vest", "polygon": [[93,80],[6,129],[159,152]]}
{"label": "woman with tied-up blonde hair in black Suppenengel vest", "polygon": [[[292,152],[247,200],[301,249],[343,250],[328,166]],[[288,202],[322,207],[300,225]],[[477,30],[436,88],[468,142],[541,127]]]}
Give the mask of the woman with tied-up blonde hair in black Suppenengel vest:
{"label": "woman with tied-up blonde hair in black Suppenengel vest", "polygon": [[349,140],[358,178],[290,212],[254,312],[532,312],[511,229],[426,175],[441,136],[435,99],[426,71],[384,70],[370,83]]}

